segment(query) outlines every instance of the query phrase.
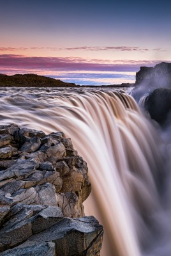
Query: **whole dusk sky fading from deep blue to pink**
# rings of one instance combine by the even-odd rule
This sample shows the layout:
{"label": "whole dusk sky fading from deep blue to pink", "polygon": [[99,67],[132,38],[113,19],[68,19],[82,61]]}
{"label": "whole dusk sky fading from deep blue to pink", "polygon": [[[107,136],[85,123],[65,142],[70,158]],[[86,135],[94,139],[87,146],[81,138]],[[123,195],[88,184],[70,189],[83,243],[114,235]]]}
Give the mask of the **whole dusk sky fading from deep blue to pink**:
{"label": "whole dusk sky fading from deep blue to pink", "polygon": [[135,83],[141,66],[171,62],[170,10],[168,0],[2,1],[0,73]]}

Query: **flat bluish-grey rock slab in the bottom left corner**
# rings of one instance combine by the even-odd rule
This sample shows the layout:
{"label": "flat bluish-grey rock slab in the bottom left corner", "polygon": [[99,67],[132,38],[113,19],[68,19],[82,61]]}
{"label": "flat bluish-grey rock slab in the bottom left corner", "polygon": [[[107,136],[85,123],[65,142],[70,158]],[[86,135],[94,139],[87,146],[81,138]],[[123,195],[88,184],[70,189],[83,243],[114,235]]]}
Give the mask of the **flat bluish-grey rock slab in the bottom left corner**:
{"label": "flat bluish-grey rock slab in the bottom left corner", "polygon": [[27,242],[16,248],[6,250],[6,252],[0,253],[1,256],[56,256],[55,244],[52,242],[48,243],[34,243]]}

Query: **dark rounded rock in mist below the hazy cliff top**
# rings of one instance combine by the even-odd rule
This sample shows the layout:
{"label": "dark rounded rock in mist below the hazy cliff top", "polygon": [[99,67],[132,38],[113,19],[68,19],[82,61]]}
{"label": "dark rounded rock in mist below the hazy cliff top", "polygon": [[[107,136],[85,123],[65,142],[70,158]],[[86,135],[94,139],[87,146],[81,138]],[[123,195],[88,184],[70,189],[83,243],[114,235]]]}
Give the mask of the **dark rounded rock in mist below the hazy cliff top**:
{"label": "dark rounded rock in mist below the hazy cliff top", "polygon": [[158,88],[145,99],[145,109],[160,125],[169,122],[171,111],[171,90]]}

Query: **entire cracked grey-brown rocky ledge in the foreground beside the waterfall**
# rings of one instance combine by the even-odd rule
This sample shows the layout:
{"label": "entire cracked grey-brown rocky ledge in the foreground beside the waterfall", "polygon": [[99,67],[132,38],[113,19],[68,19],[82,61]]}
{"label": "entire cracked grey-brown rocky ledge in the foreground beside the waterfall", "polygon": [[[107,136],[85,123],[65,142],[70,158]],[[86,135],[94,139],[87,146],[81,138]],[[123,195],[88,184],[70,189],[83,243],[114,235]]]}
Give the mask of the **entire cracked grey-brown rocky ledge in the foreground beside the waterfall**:
{"label": "entire cracked grey-brown rocky ledge in the foreground beside the waterfall", "polygon": [[0,125],[0,255],[100,255],[87,164],[63,132]]}

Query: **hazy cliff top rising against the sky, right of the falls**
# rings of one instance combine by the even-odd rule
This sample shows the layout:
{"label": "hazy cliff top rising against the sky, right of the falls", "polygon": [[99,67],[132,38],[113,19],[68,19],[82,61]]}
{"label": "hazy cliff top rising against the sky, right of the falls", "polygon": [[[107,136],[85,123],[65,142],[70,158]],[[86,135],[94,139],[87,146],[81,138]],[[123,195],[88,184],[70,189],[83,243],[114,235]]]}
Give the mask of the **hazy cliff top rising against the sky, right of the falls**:
{"label": "hazy cliff top rising against the sky, right of the falls", "polygon": [[154,68],[140,67],[136,74],[135,84],[151,84],[154,86],[171,86],[171,63],[161,62]]}

